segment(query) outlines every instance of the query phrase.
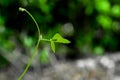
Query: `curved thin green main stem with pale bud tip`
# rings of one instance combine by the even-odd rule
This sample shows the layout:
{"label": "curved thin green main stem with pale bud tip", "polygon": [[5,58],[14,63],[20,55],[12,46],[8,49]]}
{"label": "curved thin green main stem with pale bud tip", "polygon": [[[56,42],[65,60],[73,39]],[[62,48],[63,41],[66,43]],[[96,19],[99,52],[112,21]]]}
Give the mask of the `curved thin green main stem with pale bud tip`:
{"label": "curved thin green main stem with pale bud tip", "polygon": [[41,37],[40,37],[40,29],[39,29],[38,23],[36,22],[36,20],[34,19],[34,17],[26,9],[24,9],[24,8],[20,7],[19,10],[20,11],[25,11],[33,19],[33,21],[36,24],[37,30],[38,30],[38,41],[37,41],[37,44],[35,46],[35,50],[34,50],[32,56],[31,56],[30,60],[28,61],[27,66],[25,67],[24,71],[21,73],[20,77],[18,78],[18,80],[21,80],[24,77],[24,75],[26,74],[26,72],[28,71],[28,69],[29,69],[29,67],[30,67],[30,65],[31,65],[31,63],[32,63],[32,61],[33,61],[36,53],[37,53],[37,49],[38,49]]}

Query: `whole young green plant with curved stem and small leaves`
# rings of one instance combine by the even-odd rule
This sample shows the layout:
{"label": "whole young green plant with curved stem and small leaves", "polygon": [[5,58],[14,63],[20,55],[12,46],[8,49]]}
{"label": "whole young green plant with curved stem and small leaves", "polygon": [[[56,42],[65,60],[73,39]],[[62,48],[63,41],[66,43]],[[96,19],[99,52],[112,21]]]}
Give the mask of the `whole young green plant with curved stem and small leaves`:
{"label": "whole young green plant with curved stem and small leaves", "polygon": [[36,22],[36,20],[34,19],[34,17],[30,14],[30,12],[27,11],[26,9],[22,8],[22,7],[20,7],[19,10],[22,11],[22,12],[26,12],[26,13],[32,18],[32,20],[34,21],[34,23],[35,23],[35,25],[36,25],[36,27],[37,27],[37,30],[38,30],[38,41],[37,41],[37,44],[36,44],[36,46],[35,46],[35,50],[34,50],[32,56],[31,56],[30,60],[28,61],[27,66],[25,67],[24,71],[21,73],[21,75],[20,75],[19,78],[18,78],[18,80],[22,80],[22,78],[23,78],[24,75],[26,74],[27,70],[29,69],[29,67],[30,67],[30,65],[31,65],[31,63],[32,63],[32,61],[33,61],[36,53],[37,53],[37,49],[38,49],[38,46],[39,46],[40,41],[50,42],[50,44],[51,44],[51,49],[52,49],[52,51],[53,51],[54,53],[55,53],[55,43],[68,44],[68,43],[70,43],[70,41],[67,40],[67,39],[65,39],[65,38],[63,38],[59,33],[56,33],[51,39],[44,39],[44,38],[42,37],[42,34],[40,33],[40,28],[39,28],[39,26],[38,26],[38,23]]}

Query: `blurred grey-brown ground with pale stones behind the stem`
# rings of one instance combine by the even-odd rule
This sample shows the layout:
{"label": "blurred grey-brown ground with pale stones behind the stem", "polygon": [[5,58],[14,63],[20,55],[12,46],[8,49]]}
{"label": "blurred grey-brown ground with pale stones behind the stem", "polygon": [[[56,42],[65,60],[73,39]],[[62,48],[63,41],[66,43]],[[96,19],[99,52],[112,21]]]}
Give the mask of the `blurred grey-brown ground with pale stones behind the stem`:
{"label": "blurred grey-brown ground with pale stones behind the stem", "polygon": [[[18,64],[4,68],[0,71],[0,80],[17,80],[22,72],[20,68]],[[120,53],[57,61],[46,67],[37,63],[23,80],[120,80]]]}

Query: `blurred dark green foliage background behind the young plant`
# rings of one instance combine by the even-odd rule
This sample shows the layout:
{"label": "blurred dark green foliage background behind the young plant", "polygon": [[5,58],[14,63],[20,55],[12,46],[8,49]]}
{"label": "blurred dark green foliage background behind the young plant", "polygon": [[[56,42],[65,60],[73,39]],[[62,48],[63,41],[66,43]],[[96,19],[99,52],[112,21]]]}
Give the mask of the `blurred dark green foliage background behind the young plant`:
{"label": "blurred dark green foliage background behind the young plant", "polygon": [[[57,44],[56,55],[76,59],[86,55],[103,55],[120,50],[120,0],[0,0],[0,65],[4,52],[20,48],[21,54],[32,52],[37,29],[31,18],[18,8],[26,8],[38,22],[45,38],[55,33],[71,41]],[[50,50],[40,44],[42,61]],[[8,53],[8,54],[9,54]]]}

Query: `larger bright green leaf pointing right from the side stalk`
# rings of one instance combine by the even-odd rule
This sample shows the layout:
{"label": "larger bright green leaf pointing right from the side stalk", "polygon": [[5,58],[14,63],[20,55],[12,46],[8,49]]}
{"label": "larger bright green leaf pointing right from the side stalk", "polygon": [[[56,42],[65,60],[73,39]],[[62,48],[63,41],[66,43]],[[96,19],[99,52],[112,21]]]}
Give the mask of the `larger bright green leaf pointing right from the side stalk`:
{"label": "larger bright green leaf pointing right from the side stalk", "polygon": [[60,34],[56,33],[53,38],[52,38],[52,41],[54,42],[58,42],[58,43],[70,43],[69,40],[63,38]]}

